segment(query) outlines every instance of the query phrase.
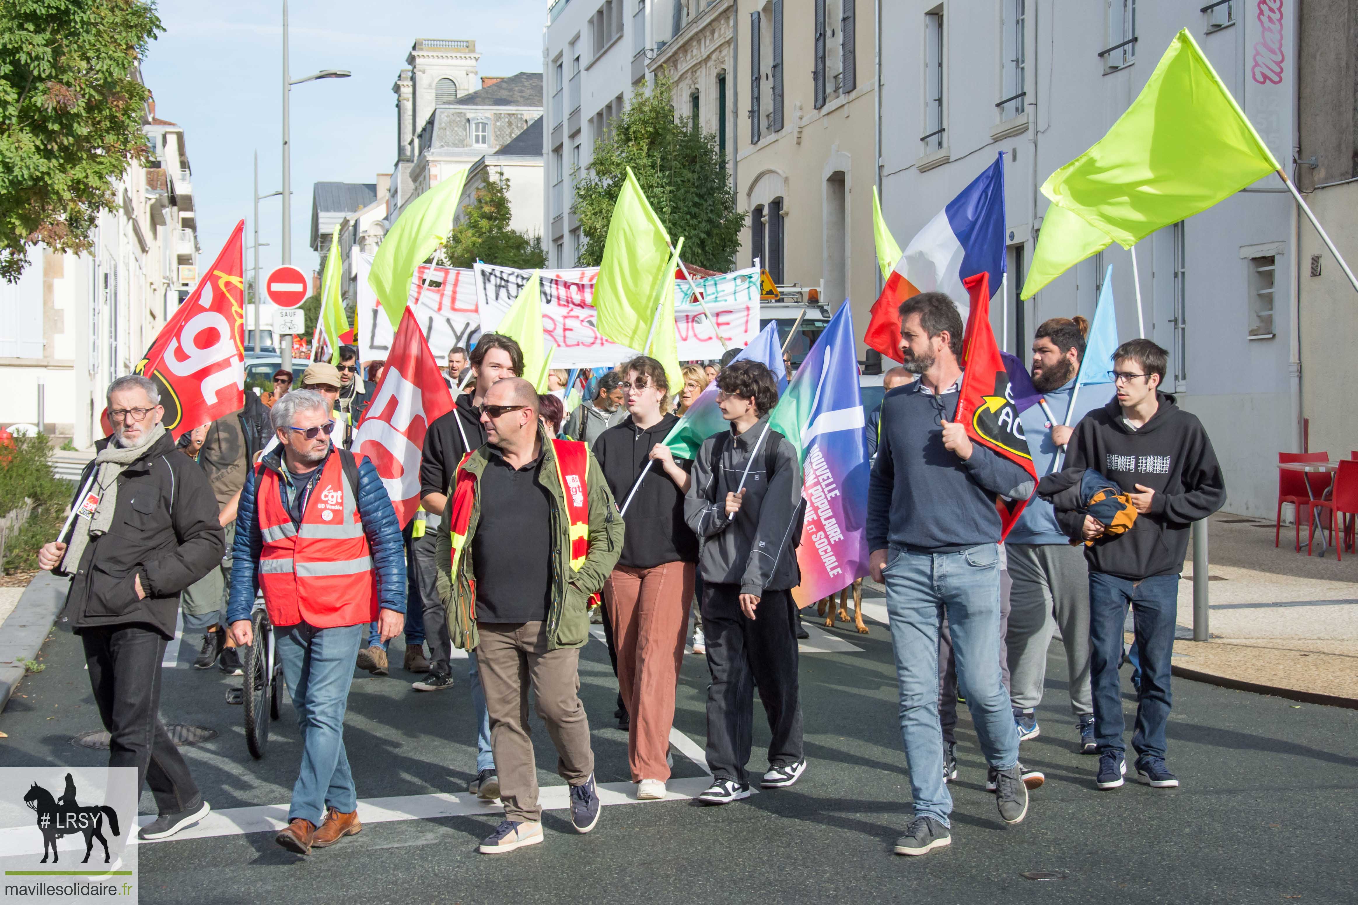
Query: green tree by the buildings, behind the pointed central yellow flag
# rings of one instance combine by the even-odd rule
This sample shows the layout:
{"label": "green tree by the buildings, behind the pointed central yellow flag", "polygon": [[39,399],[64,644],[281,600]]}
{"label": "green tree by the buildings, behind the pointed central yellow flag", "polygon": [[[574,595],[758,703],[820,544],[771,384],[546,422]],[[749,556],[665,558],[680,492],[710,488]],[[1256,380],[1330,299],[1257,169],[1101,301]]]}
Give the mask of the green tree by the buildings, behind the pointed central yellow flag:
{"label": "green tree by the buildings, behind the pointed central yellow flag", "polygon": [[585,237],[581,265],[603,259],[612,205],[631,167],[671,242],[684,237],[684,261],[708,270],[735,267],[746,214],[736,210],[725,156],[713,133],[689,117],[675,117],[671,91],[665,73],[650,94],[637,88],[610,123],[608,136],[595,142],[587,172],[577,174],[576,217]]}

